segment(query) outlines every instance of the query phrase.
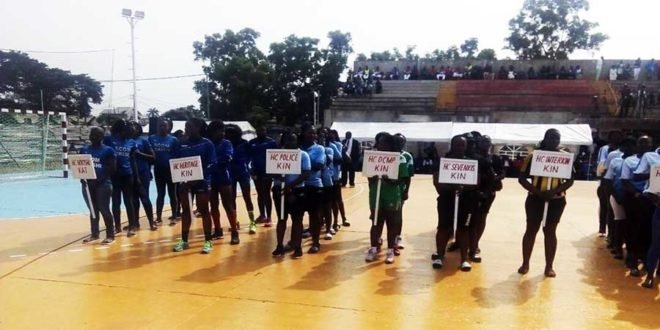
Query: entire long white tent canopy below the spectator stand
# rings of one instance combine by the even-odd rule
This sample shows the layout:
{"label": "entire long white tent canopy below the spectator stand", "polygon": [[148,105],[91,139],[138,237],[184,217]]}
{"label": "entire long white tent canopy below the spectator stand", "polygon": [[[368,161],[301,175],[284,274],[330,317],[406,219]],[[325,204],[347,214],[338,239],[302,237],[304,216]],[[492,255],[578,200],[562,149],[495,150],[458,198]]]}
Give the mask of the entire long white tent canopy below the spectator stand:
{"label": "entire long white tent canopy below the spectator stand", "polygon": [[505,123],[365,123],[335,122],[332,129],[343,136],[353,133],[358,140],[372,140],[378,132],[401,133],[410,142],[449,142],[452,136],[478,131],[491,137],[494,144],[536,144],[545,131],[556,128],[562,145],[591,145],[591,127],[587,124],[505,124]]}

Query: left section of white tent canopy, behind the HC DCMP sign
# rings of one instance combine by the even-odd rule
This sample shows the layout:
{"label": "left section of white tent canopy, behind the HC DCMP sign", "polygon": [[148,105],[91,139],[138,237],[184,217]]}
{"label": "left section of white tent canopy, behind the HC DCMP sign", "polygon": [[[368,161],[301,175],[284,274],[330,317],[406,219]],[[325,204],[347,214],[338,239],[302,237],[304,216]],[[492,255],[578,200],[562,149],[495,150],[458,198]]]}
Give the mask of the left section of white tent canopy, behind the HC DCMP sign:
{"label": "left section of white tent canopy, behind the HC DCMP sign", "polygon": [[357,140],[373,140],[380,132],[401,133],[410,142],[447,142],[451,139],[451,122],[422,123],[368,123],[368,122],[334,122],[332,129],[337,130],[340,137],[351,132]]}

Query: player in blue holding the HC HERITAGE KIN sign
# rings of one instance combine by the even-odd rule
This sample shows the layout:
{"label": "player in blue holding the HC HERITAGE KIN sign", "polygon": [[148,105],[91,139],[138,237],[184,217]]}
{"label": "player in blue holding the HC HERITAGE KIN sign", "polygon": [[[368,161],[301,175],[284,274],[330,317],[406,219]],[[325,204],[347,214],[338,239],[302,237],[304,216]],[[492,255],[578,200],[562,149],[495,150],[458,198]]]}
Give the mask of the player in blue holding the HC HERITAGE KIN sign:
{"label": "player in blue holding the HC HERITAGE KIN sign", "polygon": [[174,245],[174,252],[181,252],[189,247],[188,236],[192,223],[191,201],[188,194],[193,194],[197,202],[197,211],[202,216],[204,228],[204,245],[202,253],[207,254],[213,250],[212,223],[209,214],[209,193],[211,185],[211,169],[216,162],[215,147],[213,143],[204,138],[206,123],[202,119],[189,119],[186,122],[186,134],[174,152],[174,158],[200,156],[204,179],[179,184],[179,200],[183,211],[181,213],[181,239]]}

